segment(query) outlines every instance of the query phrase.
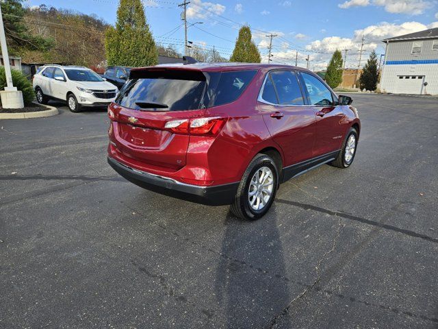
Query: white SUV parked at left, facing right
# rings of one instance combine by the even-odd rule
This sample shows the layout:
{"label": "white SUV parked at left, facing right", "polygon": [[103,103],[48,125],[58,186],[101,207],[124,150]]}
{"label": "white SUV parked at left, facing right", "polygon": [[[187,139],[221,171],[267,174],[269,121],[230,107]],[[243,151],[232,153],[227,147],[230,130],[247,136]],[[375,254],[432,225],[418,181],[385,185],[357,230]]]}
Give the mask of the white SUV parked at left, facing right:
{"label": "white SUV parked at left, facing right", "polygon": [[118,92],[114,84],[84,66],[44,65],[33,84],[38,103],[60,99],[71,112],[80,112],[82,106],[108,106]]}

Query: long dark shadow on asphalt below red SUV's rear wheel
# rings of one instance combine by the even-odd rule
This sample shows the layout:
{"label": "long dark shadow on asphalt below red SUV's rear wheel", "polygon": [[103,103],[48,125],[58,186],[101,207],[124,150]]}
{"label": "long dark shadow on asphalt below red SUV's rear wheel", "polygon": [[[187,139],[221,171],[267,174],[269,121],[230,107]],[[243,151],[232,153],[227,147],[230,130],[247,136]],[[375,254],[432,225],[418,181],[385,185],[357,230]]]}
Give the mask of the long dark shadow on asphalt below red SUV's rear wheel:
{"label": "long dark shadow on asphalt below red SUV's rear wheel", "polygon": [[225,328],[270,327],[289,298],[287,282],[274,276],[285,273],[276,215],[257,223],[229,213],[224,225],[214,290],[226,310]]}

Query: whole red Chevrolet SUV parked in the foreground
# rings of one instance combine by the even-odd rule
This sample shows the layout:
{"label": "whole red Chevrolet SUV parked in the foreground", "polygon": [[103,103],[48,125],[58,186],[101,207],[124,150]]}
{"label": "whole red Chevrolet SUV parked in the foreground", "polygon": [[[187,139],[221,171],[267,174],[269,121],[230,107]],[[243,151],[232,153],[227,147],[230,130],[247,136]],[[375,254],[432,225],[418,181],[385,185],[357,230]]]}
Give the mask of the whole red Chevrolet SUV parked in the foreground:
{"label": "whole red Chevrolet SUV parked in the foreground", "polygon": [[132,69],[108,108],[108,162],[151,191],[257,219],[281,182],[350,166],[361,129],[351,102],[295,66]]}

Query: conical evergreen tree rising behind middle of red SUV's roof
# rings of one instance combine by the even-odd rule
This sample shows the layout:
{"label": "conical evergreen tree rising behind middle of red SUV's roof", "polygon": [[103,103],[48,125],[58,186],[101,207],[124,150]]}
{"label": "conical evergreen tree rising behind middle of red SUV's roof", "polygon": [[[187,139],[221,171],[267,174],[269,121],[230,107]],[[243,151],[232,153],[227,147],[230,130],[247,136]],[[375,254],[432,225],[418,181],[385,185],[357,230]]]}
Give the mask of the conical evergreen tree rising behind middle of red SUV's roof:
{"label": "conical evergreen tree rising behind middle of red SUV's roof", "polygon": [[259,63],[260,61],[259,49],[251,40],[251,29],[248,25],[244,25],[239,30],[230,62]]}

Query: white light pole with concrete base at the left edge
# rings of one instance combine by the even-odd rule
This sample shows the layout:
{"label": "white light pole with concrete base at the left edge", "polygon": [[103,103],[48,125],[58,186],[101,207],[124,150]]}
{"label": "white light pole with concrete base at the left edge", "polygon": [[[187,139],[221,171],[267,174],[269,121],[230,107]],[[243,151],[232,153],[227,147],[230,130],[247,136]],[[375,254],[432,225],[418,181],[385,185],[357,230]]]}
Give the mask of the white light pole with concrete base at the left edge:
{"label": "white light pole with concrete base at the left edge", "polygon": [[11,66],[9,64],[8,45],[6,44],[5,28],[3,26],[3,14],[0,7],[0,46],[5,66],[6,86],[0,91],[1,105],[3,108],[24,108],[23,93],[17,90],[12,82]]}

